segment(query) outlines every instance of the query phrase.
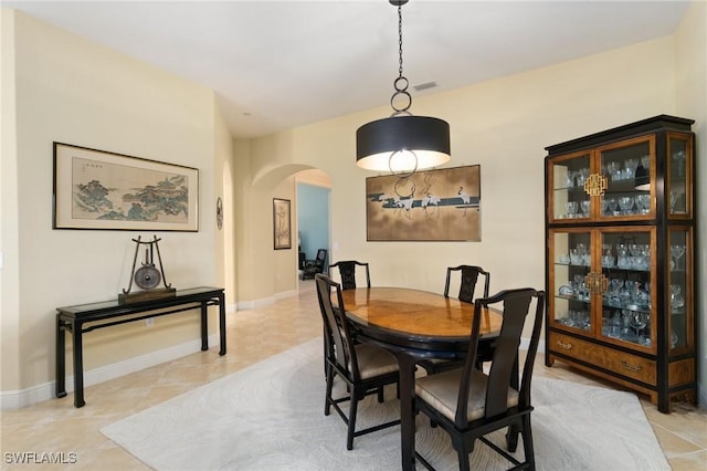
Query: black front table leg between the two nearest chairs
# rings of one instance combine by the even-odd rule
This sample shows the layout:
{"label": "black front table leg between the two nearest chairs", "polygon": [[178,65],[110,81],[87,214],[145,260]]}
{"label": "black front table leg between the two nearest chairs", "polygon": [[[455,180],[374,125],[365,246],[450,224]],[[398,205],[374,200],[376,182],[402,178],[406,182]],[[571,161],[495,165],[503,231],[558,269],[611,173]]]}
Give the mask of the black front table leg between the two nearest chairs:
{"label": "black front table leg between the two nearest chairs", "polygon": [[400,368],[400,448],[402,470],[415,469],[415,358],[391,349]]}

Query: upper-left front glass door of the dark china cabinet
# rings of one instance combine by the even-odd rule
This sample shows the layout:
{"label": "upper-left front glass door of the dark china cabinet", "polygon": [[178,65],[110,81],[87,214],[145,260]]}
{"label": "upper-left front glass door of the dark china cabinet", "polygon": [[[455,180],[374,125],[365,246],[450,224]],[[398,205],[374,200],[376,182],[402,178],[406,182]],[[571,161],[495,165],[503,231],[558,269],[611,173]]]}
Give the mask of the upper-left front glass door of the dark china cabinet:
{"label": "upper-left front glass door of the dark china cabinet", "polygon": [[581,220],[591,218],[590,197],[584,182],[590,175],[590,154],[579,153],[553,160],[549,181],[552,182],[550,219]]}

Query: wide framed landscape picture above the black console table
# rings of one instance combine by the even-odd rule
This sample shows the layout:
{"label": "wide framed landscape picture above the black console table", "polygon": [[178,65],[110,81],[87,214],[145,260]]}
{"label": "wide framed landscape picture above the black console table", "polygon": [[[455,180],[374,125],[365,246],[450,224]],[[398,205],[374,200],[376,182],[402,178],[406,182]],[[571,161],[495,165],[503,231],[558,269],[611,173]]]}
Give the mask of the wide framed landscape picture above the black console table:
{"label": "wide framed landscape picture above the black console table", "polygon": [[199,170],[54,143],[54,229],[199,230]]}

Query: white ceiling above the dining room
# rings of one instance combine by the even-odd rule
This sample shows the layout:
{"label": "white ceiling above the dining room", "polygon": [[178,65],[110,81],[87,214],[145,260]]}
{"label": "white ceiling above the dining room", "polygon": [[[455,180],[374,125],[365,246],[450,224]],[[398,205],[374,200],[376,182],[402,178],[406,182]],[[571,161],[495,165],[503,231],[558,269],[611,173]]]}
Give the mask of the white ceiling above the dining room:
{"label": "white ceiling above the dining room", "polygon": [[[414,97],[669,35],[688,3],[411,0],[404,75]],[[387,106],[398,76],[388,0],[1,4],[213,88],[236,137]]]}

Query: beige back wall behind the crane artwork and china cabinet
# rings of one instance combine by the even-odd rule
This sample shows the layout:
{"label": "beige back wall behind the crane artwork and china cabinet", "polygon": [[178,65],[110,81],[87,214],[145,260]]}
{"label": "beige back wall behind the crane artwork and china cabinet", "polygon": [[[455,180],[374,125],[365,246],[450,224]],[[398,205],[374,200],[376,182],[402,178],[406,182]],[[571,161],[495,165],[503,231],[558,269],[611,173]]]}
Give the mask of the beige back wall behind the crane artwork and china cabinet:
{"label": "beige back wall behind the crane artwork and china cabinet", "polygon": [[[493,273],[492,291],[544,286],[544,157],[546,146],[658,114],[696,119],[698,201],[705,219],[707,161],[699,143],[705,123],[705,3],[695,2],[675,36],[495,80],[447,93],[415,97],[413,113],[446,119],[453,160],[482,166],[481,243],[383,243],[366,241],[365,178],[355,165],[355,132],[389,114],[366,113],[302,126],[257,139],[250,154],[253,175],[319,168],[331,177],[330,260],[372,261],[377,284],[442,291],[450,264],[481,264]],[[266,150],[264,150],[266,149]],[[252,227],[266,228],[252,211]],[[253,238],[253,234],[251,233]],[[254,239],[257,239],[254,237]],[[706,230],[699,229],[701,248]],[[334,249],[337,248],[338,249]],[[264,248],[262,248],[264,249]],[[243,257],[245,251],[240,251]],[[705,250],[699,258],[705,280]],[[704,285],[704,281],[701,281]],[[239,296],[252,296],[241,285]],[[704,290],[698,295],[699,381],[707,391]]]}

